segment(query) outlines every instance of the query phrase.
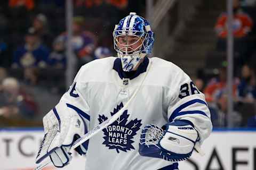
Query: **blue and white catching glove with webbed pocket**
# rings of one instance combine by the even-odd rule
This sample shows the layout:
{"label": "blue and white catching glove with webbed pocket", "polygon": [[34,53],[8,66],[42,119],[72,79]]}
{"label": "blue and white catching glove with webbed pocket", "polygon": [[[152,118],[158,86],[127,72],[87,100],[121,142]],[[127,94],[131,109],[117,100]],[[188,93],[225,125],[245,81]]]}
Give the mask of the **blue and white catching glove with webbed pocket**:
{"label": "blue and white catching glove with webbed pocket", "polygon": [[177,120],[162,128],[151,124],[142,129],[139,153],[141,156],[178,162],[191,156],[198,140],[198,132],[189,121]]}

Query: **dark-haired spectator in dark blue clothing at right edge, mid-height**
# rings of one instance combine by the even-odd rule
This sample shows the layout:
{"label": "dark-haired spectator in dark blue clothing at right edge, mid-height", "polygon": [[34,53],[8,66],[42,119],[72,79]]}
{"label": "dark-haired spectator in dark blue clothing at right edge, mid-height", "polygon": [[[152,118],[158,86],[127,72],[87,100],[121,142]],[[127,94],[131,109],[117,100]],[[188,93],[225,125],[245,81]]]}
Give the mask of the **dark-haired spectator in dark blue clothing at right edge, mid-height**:
{"label": "dark-haired spectator in dark blue clothing at right edge, mid-height", "polygon": [[256,99],[256,82],[253,69],[249,65],[242,67],[242,78],[238,84],[238,98],[244,103],[254,103]]}

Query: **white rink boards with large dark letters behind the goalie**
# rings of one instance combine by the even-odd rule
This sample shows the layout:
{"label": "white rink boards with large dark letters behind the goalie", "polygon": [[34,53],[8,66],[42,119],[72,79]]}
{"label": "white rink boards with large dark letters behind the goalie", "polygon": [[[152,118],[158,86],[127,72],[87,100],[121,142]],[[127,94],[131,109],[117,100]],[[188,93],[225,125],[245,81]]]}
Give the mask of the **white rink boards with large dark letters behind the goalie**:
{"label": "white rink boards with large dark letters behind the goalie", "polygon": [[[29,170],[35,167],[35,156],[43,129],[0,129],[0,169]],[[256,129],[214,130],[204,142],[202,157],[196,152],[180,169],[256,169]],[[84,170],[85,157],[73,153],[66,169]],[[48,167],[47,169],[54,169]],[[46,170],[46,169],[45,169]]]}

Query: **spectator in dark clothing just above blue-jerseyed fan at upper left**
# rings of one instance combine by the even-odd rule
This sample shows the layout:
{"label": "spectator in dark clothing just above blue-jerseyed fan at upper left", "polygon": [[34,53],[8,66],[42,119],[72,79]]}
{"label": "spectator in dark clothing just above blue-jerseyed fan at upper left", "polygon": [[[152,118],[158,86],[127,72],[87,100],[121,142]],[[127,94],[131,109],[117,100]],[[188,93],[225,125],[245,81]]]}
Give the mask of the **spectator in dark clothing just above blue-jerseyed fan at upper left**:
{"label": "spectator in dark clothing just above blue-jerseyed fan at upper left", "polygon": [[42,43],[47,47],[51,47],[53,36],[47,27],[47,18],[44,14],[38,14],[33,20],[33,27]]}

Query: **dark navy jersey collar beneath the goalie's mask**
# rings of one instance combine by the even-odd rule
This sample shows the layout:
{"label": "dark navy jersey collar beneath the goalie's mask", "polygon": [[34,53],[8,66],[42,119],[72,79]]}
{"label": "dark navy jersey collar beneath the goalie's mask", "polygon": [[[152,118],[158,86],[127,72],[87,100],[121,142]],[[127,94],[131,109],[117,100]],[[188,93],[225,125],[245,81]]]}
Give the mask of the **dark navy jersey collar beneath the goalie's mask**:
{"label": "dark navy jersey collar beneath the goalie's mask", "polygon": [[124,72],[122,69],[121,59],[116,58],[116,60],[114,61],[113,69],[118,73],[118,75],[121,79],[128,78],[128,79],[132,80],[132,79],[138,77],[141,73],[144,73],[147,71],[148,63],[149,63],[149,59],[148,59],[148,57],[145,57],[144,61],[139,65],[139,67],[136,71]]}

